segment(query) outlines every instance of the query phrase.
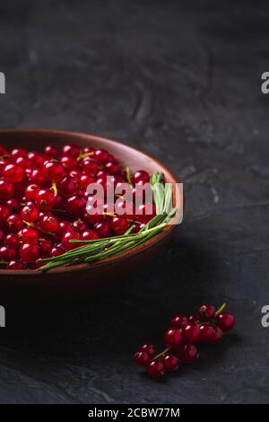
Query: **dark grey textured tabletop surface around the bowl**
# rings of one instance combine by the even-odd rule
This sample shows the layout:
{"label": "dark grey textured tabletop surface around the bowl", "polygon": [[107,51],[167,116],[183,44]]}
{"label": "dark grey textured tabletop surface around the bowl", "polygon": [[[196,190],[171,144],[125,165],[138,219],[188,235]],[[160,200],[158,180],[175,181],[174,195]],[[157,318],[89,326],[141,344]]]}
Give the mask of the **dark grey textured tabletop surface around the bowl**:
{"label": "dark grey textured tabletop surface around the bowl", "polygon": [[[187,209],[167,250],[115,293],[7,308],[0,402],[268,403],[268,2],[5,3],[0,127],[143,147],[184,181]],[[167,382],[143,377],[137,345],[160,344],[174,312],[204,301],[227,301],[236,329]]]}

